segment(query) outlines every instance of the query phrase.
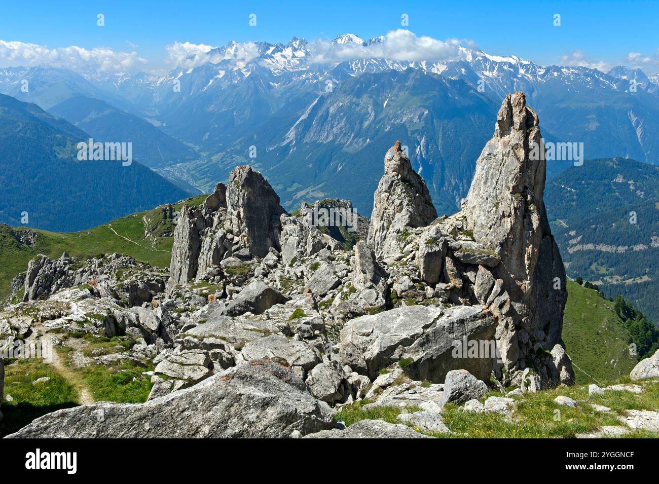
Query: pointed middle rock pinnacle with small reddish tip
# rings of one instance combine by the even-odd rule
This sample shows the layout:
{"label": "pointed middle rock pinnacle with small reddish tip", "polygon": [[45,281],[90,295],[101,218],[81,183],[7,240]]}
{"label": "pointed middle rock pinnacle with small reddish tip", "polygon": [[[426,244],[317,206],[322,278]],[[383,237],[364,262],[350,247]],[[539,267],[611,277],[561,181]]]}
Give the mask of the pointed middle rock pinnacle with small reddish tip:
{"label": "pointed middle rock pinnacle with small reddish tip", "polygon": [[400,254],[406,229],[424,227],[436,218],[428,187],[397,141],[384,155],[384,176],[373,199],[368,246],[378,257]]}

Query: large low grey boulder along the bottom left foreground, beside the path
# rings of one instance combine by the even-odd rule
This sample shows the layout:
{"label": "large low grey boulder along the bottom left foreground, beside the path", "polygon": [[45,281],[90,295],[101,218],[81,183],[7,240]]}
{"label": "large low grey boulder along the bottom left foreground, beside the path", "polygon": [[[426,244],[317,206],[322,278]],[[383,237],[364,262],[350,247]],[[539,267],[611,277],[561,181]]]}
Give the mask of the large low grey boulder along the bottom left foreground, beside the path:
{"label": "large low grey boulder along the bottom left foreground, beside the path", "polygon": [[99,403],[46,414],[14,438],[290,437],[331,429],[334,412],[276,360],[227,369],[144,404]]}

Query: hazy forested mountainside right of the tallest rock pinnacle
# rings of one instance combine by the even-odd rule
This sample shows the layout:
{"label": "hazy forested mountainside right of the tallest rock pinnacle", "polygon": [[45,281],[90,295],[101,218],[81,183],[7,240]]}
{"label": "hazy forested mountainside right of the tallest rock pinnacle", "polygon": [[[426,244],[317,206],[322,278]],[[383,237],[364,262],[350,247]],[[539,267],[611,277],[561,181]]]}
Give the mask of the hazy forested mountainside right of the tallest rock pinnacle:
{"label": "hazy forested mountainside right of the tallest rock pinnacle", "polygon": [[565,270],[622,294],[659,321],[659,167],[588,160],[546,184],[546,205]]}

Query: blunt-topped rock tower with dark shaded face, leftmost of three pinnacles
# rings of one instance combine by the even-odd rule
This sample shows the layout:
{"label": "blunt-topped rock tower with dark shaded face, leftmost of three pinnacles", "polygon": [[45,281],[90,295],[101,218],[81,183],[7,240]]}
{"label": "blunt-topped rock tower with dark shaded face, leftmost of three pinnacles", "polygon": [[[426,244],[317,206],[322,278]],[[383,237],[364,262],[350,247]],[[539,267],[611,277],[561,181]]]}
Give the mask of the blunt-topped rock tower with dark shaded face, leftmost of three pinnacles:
{"label": "blunt-topped rock tower with dark shaded face, leftmost of three pinnacles", "polygon": [[229,175],[227,188],[227,226],[238,236],[238,243],[258,257],[265,257],[271,247],[279,250],[279,217],[286,211],[279,196],[266,179],[245,165]]}

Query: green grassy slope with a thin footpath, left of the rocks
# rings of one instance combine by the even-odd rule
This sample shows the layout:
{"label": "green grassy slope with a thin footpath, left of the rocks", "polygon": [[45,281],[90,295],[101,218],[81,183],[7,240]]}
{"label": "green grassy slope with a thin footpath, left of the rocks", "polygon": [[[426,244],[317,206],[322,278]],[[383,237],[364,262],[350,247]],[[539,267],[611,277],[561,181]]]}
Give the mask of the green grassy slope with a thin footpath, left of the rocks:
{"label": "green grassy slope with a thin footpath, left of the rocks", "polygon": [[[207,195],[188,199],[187,203],[198,205]],[[175,210],[181,208],[182,203],[174,206]],[[7,225],[0,225],[0,300],[11,291],[10,284],[13,277],[24,272],[28,261],[35,255],[44,254],[57,258],[67,251],[72,257],[89,257],[96,254],[127,254],[140,261],[146,261],[158,267],[169,267],[171,259],[171,237],[158,237],[152,244],[149,238],[144,237],[144,217],[147,224],[156,227],[155,232],[171,229],[172,221],[161,219],[158,208],[146,212],[134,213],[110,223],[99,225],[94,229],[80,232],[48,232],[47,230],[34,230],[37,236],[34,245],[28,246],[18,242],[11,234],[12,230],[20,232],[33,230],[26,227],[11,229]],[[111,229],[114,229],[115,234]],[[129,242],[121,236],[133,240]]]}

